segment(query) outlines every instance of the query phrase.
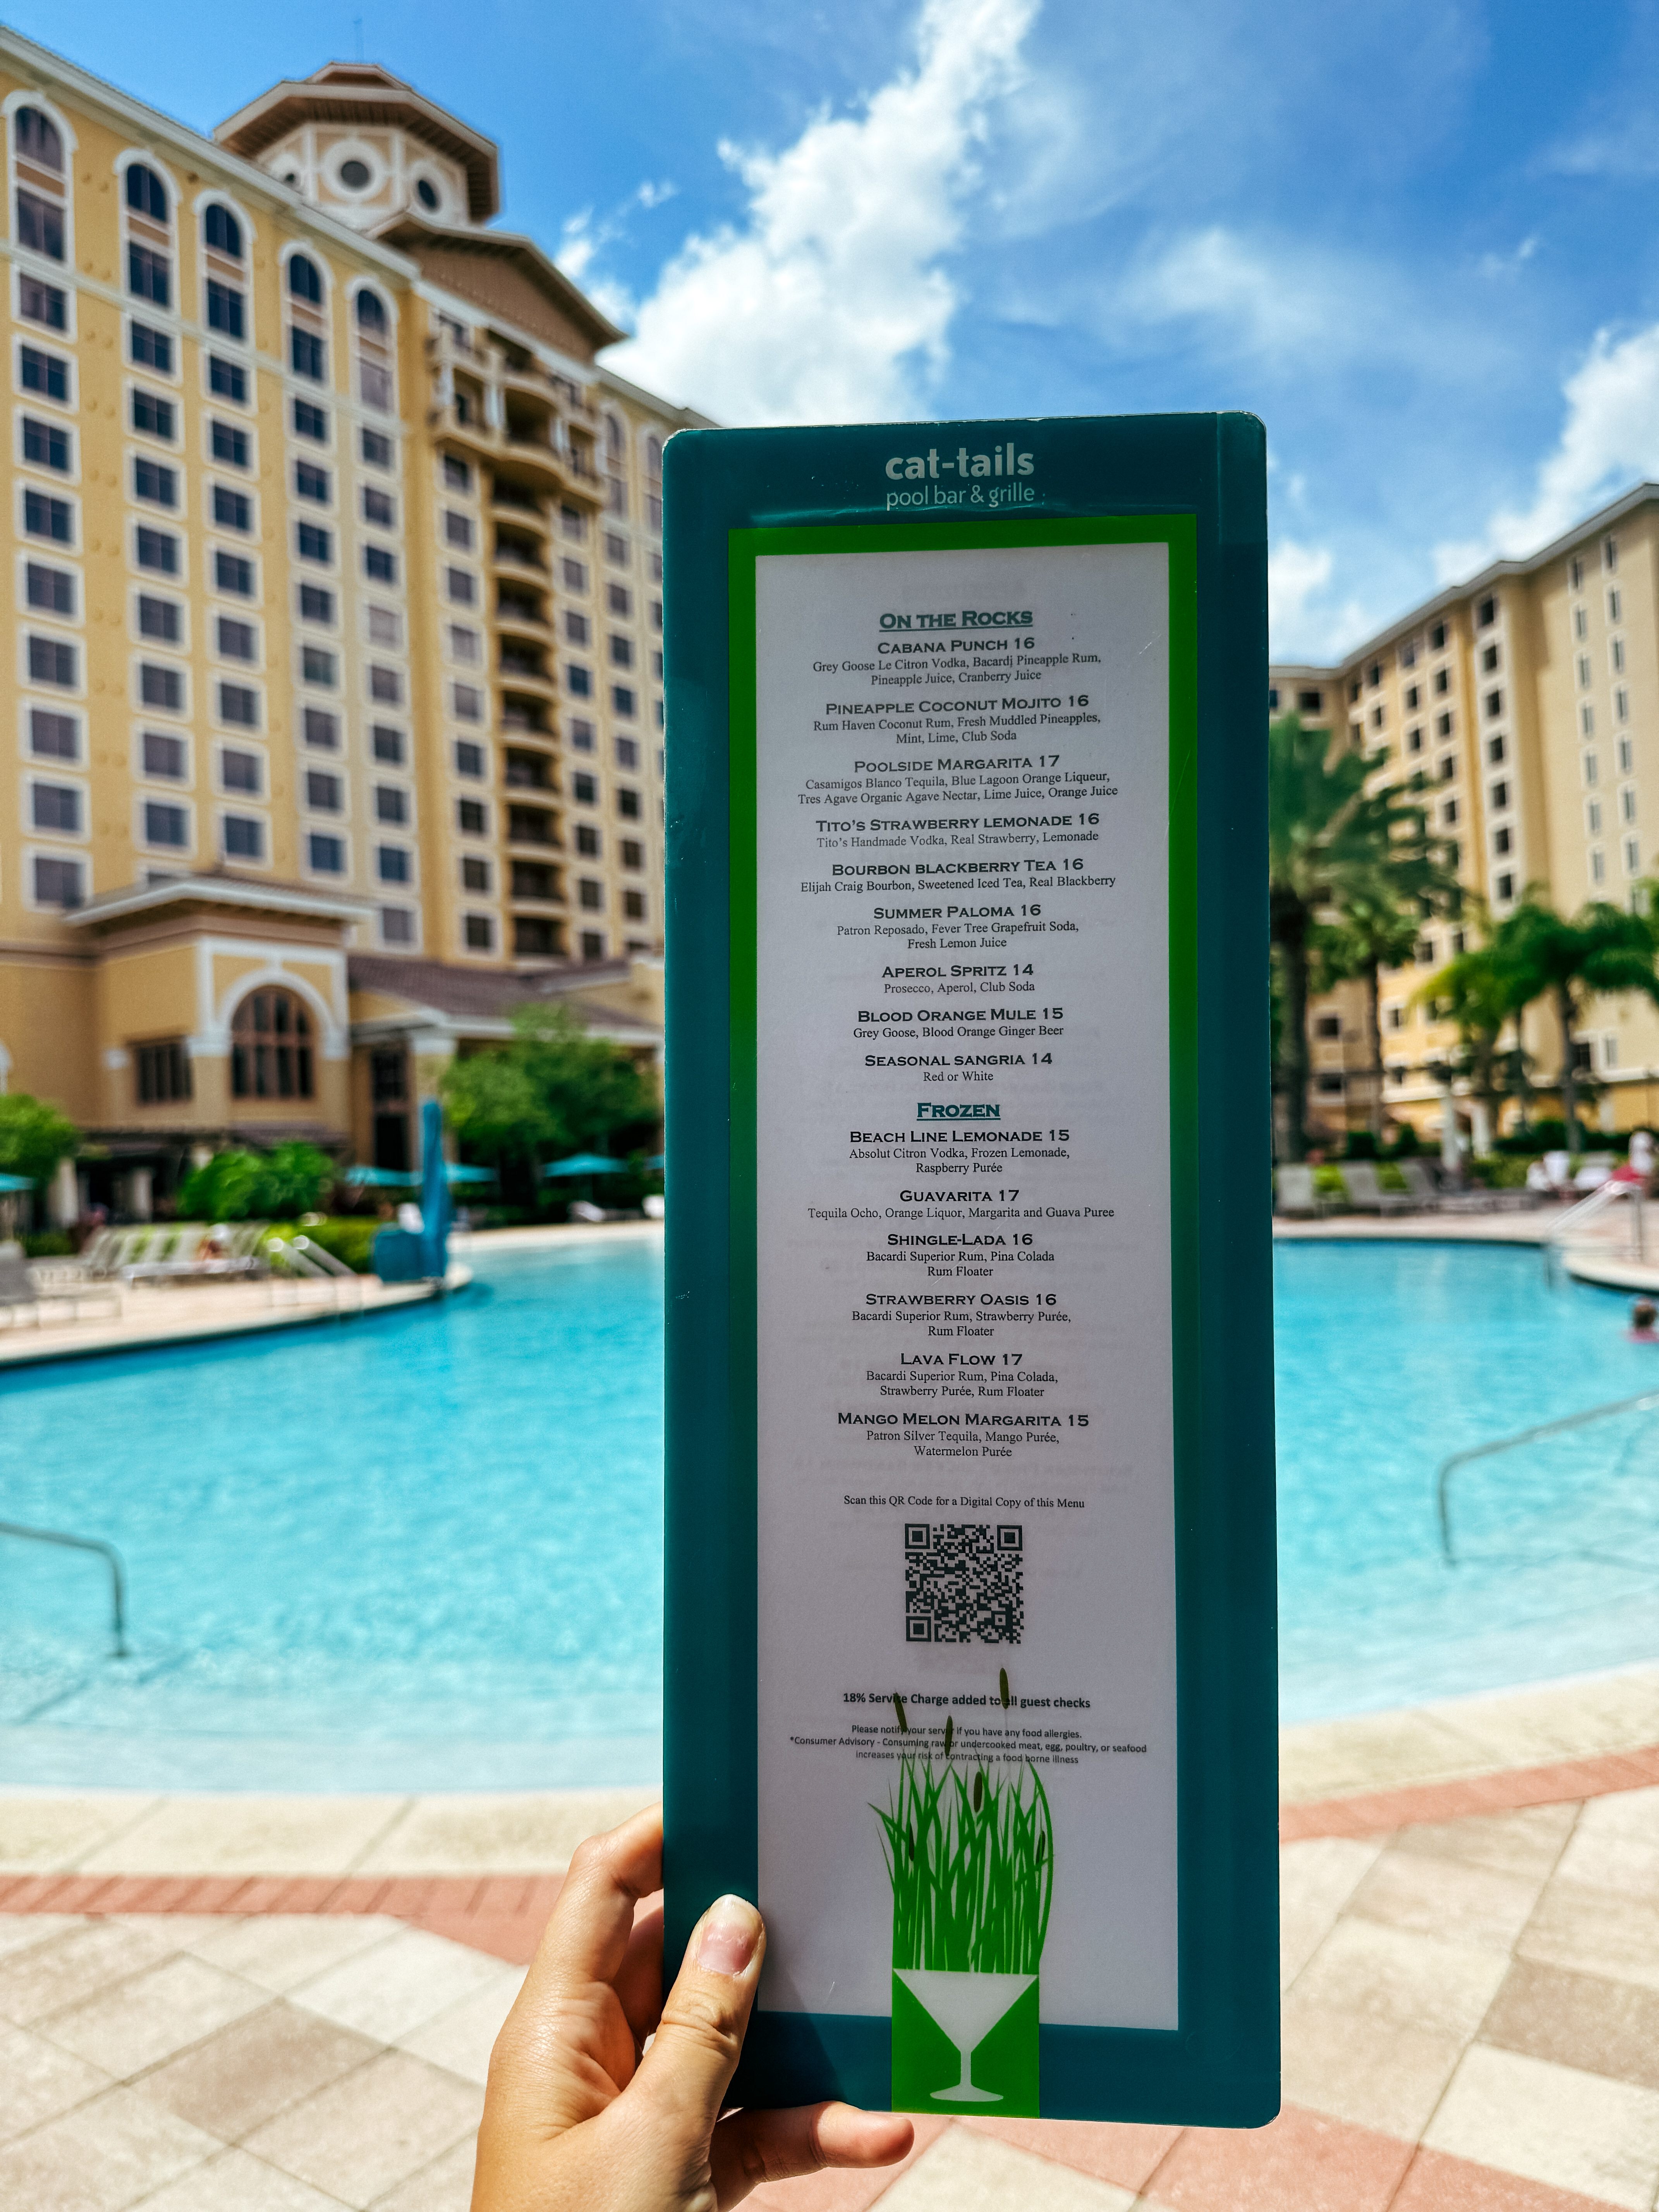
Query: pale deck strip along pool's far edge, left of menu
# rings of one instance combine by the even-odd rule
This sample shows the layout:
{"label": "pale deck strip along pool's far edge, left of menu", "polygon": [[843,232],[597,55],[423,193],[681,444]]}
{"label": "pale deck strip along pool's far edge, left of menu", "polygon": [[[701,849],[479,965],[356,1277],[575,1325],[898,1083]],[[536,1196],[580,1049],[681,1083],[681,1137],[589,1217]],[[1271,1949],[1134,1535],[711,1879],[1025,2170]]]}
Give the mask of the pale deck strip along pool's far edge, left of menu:
{"label": "pale deck strip along pool's far edge, left of menu", "polygon": [[[135,1283],[122,1292],[122,1314],[88,1312],[84,1321],[53,1318],[40,1327],[15,1318],[0,1329],[0,1371],[46,1360],[100,1358],[111,1352],[153,1352],[159,1345],[215,1343],[230,1336],[263,1336],[392,1314],[405,1305],[427,1305],[465,1290],[471,1261],[484,1252],[557,1250],[628,1237],[661,1237],[655,1221],[606,1221],[604,1225],[487,1230],[458,1239],[445,1283],[383,1283],[374,1274],[354,1283]],[[91,1305],[91,1298],[88,1298]]]}

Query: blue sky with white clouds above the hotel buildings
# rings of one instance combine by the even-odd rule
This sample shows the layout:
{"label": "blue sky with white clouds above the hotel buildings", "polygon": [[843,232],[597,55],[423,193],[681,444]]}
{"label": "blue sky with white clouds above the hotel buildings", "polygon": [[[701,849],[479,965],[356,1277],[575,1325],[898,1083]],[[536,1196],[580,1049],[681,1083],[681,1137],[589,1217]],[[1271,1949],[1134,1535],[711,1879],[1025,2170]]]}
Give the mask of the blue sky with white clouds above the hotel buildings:
{"label": "blue sky with white clouds above the hotel buildings", "polygon": [[1657,0],[9,20],[210,128],[358,15],[500,142],[617,365],[726,422],[1261,414],[1281,657],[1659,476]]}

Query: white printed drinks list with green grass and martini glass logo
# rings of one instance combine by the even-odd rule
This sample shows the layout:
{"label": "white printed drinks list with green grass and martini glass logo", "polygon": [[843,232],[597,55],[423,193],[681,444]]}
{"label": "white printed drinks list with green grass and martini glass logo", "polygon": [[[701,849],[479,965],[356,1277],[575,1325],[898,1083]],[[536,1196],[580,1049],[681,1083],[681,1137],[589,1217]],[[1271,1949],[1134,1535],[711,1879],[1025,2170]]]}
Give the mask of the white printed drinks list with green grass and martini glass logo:
{"label": "white printed drinks list with green grass and martini glass logo", "polygon": [[761,2006],[1037,2110],[1179,2024],[1168,544],[754,571]]}

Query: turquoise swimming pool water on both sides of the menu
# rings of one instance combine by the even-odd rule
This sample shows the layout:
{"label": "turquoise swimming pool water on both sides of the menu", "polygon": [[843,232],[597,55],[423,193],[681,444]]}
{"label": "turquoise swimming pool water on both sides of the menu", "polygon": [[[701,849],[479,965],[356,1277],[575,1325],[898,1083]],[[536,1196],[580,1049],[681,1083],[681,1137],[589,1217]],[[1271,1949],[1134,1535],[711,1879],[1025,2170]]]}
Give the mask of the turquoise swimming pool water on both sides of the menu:
{"label": "turquoise swimming pool water on both sides of the menu", "polygon": [[[1624,1301],[1458,1245],[1276,1252],[1287,1719],[1659,1652],[1659,1420],[1449,1453],[1659,1389]],[[0,1778],[648,1781],[659,1761],[661,1254],[489,1254],[440,1307],[0,1378]]]}

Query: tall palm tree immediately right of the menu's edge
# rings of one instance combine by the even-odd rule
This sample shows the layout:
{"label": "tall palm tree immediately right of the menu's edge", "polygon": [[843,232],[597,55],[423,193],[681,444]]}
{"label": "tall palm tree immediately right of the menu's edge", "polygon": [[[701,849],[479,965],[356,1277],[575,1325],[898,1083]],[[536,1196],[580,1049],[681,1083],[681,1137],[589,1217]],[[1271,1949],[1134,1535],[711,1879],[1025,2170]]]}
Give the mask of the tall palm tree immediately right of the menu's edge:
{"label": "tall palm tree immediately right of the menu's edge", "polygon": [[1332,745],[1296,714],[1267,723],[1267,911],[1281,964],[1285,1150],[1307,1155],[1307,967],[1332,907],[1433,911],[1455,876],[1429,834],[1418,783],[1367,790],[1376,759]]}

